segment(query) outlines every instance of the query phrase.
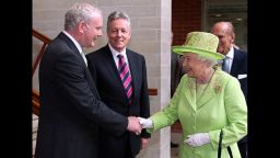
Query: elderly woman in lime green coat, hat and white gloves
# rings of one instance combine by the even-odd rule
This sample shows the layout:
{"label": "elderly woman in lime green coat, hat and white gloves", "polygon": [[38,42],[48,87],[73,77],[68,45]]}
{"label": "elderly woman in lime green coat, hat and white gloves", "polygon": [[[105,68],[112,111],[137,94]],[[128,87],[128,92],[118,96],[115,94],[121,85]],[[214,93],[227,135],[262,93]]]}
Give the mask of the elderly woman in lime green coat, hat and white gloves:
{"label": "elderly woman in lime green coat, hat and white gloves", "polygon": [[186,43],[174,46],[182,55],[186,75],[170,104],[150,119],[141,119],[150,133],[179,120],[183,138],[179,158],[217,158],[221,132],[221,157],[241,158],[237,140],[247,134],[247,105],[236,78],[221,70],[218,60],[219,38],[210,33],[191,32]]}

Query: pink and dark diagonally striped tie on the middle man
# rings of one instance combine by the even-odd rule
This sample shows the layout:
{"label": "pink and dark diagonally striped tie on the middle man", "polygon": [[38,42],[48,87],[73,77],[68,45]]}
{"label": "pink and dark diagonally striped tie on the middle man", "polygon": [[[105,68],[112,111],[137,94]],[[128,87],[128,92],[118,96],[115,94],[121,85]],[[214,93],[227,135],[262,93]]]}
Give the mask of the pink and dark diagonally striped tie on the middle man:
{"label": "pink and dark diagonally striped tie on the middle man", "polygon": [[121,79],[121,82],[124,84],[125,91],[127,93],[127,98],[129,101],[129,105],[131,104],[132,101],[132,78],[129,72],[128,65],[121,54],[118,55],[118,72]]}

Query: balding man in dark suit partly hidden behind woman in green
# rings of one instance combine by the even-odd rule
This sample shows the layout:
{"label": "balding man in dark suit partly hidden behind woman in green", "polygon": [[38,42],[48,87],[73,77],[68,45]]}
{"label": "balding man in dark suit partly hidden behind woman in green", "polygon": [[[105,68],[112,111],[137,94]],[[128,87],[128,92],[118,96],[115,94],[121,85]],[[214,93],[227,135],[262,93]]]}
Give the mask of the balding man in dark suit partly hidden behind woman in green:
{"label": "balding man in dark suit partly hidden behind woman in green", "polygon": [[[247,101],[247,53],[234,45],[235,33],[231,22],[218,22],[211,31],[220,40],[218,50],[228,58],[228,72],[237,78]],[[242,158],[247,158],[247,136],[238,142]]]}

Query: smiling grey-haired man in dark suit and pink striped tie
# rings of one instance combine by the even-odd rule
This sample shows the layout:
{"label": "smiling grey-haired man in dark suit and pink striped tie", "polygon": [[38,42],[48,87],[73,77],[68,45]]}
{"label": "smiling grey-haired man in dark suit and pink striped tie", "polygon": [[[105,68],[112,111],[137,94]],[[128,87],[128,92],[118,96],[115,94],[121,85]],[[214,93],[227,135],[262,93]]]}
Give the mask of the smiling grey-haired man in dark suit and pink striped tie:
{"label": "smiling grey-haired man in dark suit and pink striped tie", "polygon": [[[126,116],[149,117],[145,59],[126,47],[130,36],[130,18],[121,11],[110,13],[107,21],[108,44],[86,55],[89,69],[101,99],[110,109]],[[119,65],[122,60],[119,55],[124,57],[126,67]],[[127,74],[124,78],[119,75],[122,70]],[[100,134],[103,158],[133,158],[148,145],[150,138],[145,129],[141,135],[126,132],[116,136],[102,128]]]}

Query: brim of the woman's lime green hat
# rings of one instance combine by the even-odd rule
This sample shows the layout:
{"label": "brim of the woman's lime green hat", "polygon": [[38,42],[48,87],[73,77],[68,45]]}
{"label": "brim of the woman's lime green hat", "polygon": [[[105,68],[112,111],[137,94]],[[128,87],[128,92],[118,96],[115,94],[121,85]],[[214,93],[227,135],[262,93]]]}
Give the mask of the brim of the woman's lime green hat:
{"label": "brim of the woman's lime green hat", "polygon": [[195,53],[195,54],[199,54],[200,56],[212,58],[215,60],[221,60],[224,58],[224,55],[220,53],[208,52],[208,50],[191,47],[191,46],[173,46],[172,50],[179,55],[184,55],[185,53]]}

